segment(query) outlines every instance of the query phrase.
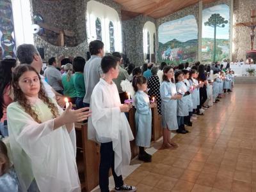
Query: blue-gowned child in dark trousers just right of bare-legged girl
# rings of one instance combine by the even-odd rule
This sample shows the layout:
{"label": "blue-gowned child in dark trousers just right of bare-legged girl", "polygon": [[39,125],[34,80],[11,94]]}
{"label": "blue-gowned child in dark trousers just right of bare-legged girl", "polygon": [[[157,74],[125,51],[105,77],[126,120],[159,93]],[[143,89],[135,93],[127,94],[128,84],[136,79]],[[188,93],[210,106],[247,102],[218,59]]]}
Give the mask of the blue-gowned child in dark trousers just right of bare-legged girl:
{"label": "blue-gowned child in dark trousers just right of bare-legged girl", "polygon": [[188,130],[185,129],[184,125],[184,117],[189,115],[189,108],[188,108],[188,100],[189,100],[189,94],[187,86],[184,84],[184,75],[182,71],[176,71],[175,72],[175,82],[176,82],[176,89],[177,91],[182,94],[182,98],[178,100],[177,105],[177,121],[179,129],[177,129],[177,133],[186,134],[189,133]]}

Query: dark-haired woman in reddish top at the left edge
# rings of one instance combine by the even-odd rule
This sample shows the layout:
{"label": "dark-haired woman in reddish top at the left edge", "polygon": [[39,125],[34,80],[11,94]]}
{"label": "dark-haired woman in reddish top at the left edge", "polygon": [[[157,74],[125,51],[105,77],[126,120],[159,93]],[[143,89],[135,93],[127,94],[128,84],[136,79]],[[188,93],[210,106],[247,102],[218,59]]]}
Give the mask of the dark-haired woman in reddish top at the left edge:
{"label": "dark-haired woman in reddish top at the left edge", "polygon": [[0,64],[0,135],[8,136],[6,108],[13,101],[12,71],[16,66],[16,59],[4,59]]}

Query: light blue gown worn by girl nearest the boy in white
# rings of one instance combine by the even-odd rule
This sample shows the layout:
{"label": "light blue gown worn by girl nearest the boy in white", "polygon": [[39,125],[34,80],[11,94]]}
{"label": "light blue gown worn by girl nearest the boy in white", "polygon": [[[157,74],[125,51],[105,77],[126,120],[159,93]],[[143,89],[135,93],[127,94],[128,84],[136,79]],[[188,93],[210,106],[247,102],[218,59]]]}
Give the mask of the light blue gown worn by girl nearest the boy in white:
{"label": "light blue gown worn by girl nearest the boy in white", "polygon": [[136,145],[150,147],[152,132],[152,115],[148,95],[143,91],[134,94]]}

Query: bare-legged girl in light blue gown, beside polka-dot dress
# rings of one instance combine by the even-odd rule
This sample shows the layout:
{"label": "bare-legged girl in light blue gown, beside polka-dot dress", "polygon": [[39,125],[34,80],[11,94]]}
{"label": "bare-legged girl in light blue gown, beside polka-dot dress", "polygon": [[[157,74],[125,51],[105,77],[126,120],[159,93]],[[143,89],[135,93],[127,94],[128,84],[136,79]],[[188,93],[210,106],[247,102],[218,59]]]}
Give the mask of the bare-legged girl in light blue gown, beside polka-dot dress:
{"label": "bare-legged girl in light blue gown, beside polka-dot dress", "polygon": [[171,139],[171,131],[178,129],[177,100],[180,100],[182,95],[177,94],[173,77],[172,66],[165,66],[163,69],[163,82],[160,86],[163,126],[163,145],[161,149],[175,149],[178,147]]}

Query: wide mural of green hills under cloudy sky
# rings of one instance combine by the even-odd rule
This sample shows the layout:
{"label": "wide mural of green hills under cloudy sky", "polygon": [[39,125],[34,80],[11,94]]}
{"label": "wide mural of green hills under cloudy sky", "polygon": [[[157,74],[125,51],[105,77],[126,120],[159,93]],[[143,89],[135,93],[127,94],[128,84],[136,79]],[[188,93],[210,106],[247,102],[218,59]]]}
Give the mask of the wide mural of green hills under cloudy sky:
{"label": "wide mural of green hills under cloudy sky", "polygon": [[158,61],[173,63],[195,62],[198,52],[196,18],[188,15],[159,26]]}

